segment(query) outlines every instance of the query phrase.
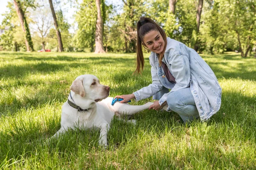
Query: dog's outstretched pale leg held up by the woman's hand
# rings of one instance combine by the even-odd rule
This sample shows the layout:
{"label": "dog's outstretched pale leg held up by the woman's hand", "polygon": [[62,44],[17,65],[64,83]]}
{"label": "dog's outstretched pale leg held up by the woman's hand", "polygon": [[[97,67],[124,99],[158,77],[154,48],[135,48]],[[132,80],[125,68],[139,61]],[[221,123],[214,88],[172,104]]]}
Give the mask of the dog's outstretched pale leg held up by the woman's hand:
{"label": "dog's outstretched pale leg held up by the woman's hand", "polygon": [[145,105],[129,105],[127,103],[115,103],[113,108],[116,113],[121,115],[133,115],[145,109],[148,109],[151,106],[152,102],[147,102]]}

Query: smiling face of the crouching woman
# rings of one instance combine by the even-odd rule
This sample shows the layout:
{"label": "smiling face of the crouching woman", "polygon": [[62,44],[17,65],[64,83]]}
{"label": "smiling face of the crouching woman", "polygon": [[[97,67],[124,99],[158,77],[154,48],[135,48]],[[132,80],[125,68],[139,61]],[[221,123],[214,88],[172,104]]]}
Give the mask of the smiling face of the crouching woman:
{"label": "smiling face of the crouching woman", "polygon": [[152,52],[160,54],[163,51],[164,40],[159,31],[152,30],[143,37],[143,43]]}

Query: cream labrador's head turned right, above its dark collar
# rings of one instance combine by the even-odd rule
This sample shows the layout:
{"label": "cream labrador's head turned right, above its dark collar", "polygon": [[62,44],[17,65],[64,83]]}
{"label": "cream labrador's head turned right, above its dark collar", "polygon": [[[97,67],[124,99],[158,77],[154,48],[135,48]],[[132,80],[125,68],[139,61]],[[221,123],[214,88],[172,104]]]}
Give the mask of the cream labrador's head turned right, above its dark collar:
{"label": "cream labrador's head turned right, above its dark collar", "polygon": [[99,102],[108,97],[110,88],[100,84],[96,76],[85,74],[77,77],[75,81],[73,81],[70,90],[79,94],[84,99]]}

